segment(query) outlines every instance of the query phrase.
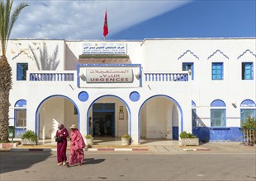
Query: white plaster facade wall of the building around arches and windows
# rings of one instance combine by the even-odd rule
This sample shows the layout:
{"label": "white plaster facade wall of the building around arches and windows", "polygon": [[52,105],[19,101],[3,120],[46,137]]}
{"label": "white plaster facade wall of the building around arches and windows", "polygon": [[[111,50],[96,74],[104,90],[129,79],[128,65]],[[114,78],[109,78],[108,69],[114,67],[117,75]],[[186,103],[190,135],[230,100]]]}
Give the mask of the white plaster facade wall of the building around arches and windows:
{"label": "white plaster facade wall of the building around arches and windows", "polygon": [[[227,127],[239,127],[239,104],[243,100],[250,99],[256,102],[256,39],[145,39],[144,42],[127,42],[127,53],[130,56],[130,63],[141,63],[143,72],[181,72],[183,62],[192,62],[194,63],[194,80],[184,82],[145,81],[143,75],[142,87],[101,89],[79,89],[76,79],[71,82],[15,81],[17,62],[23,63],[23,61],[27,61],[29,62],[30,71],[36,72],[37,70],[36,63],[31,59],[27,49],[28,44],[33,44],[33,42],[36,42],[36,44],[46,42],[52,48],[48,50],[52,51],[55,49],[56,44],[59,44],[60,49],[61,44],[66,43],[63,46],[66,49],[59,52],[59,54],[63,55],[60,58],[63,62],[59,65],[58,70],[75,70],[78,56],[81,54],[80,44],[82,41],[21,39],[14,40],[11,45],[9,44],[7,58],[12,66],[14,77],[13,89],[10,95],[10,116],[13,115],[12,106],[17,100],[27,100],[27,129],[36,129],[36,109],[40,102],[50,95],[65,95],[78,104],[78,109],[80,110],[79,128],[83,134],[87,132],[87,122],[85,121],[88,118],[87,110],[94,100],[102,95],[121,97],[130,106],[130,114],[126,114],[125,117],[127,121],[131,120],[130,125],[127,123],[127,127],[128,130],[131,130],[134,142],[140,140],[138,123],[140,106],[145,100],[154,95],[168,95],[178,103],[177,115],[173,115],[173,118],[178,118],[179,120],[179,132],[181,132],[182,116],[183,130],[187,132],[192,131],[191,100],[197,104],[198,121],[199,119],[201,120],[201,123],[198,124],[202,126],[210,126],[211,102],[216,99],[223,100],[226,104]],[[24,51],[21,51],[21,49],[24,49]],[[244,53],[247,49],[252,51],[252,53],[249,51]],[[64,60],[66,60],[65,63]],[[224,63],[224,80],[211,80],[212,62]],[[254,63],[254,80],[241,80],[242,62]],[[74,73],[76,75],[76,72]],[[89,95],[86,102],[78,100],[78,93],[83,90],[87,91]],[[130,92],[132,91],[140,93],[140,100],[137,102],[129,99]],[[232,103],[235,103],[237,107],[233,107]],[[145,115],[149,114],[144,111],[141,113],[142,120],[144,120]],[[65,116],[66,118],[71,118],[70,115]],[[120,123],[118,121],[116,125],[120,128],[117,130],[123,128],[122,123],[124,122]],[[142,121],[141,123],[144,122]],[[131,128],[129,128],[130,126]],[[127,129],[124,128],[124,130]],[[119,133],[117,136],[120,136],[123,132]],[[141,135],[144,134],[145,132],[141,132]]]}

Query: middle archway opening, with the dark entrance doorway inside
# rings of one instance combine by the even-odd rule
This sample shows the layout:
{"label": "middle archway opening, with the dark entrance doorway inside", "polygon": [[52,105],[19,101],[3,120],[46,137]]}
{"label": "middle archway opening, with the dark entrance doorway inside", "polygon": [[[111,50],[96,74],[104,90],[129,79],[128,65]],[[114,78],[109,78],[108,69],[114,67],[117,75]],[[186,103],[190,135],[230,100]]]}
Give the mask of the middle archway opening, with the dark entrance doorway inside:
{"label": "middle archway opening, with the dark entrance doorway inside", "polygon": [[88,134],[93,137],[121,137],[130,134],[130,108],[116,95],[102,95],[88,109]]}

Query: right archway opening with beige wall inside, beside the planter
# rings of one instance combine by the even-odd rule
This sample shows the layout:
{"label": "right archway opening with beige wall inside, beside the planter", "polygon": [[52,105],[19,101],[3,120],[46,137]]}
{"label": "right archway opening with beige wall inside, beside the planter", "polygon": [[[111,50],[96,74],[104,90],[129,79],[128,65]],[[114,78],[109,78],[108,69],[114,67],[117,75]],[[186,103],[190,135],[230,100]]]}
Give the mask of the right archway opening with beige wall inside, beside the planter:
{"label": "right archway opening with beige wall inside, beside the planter", "polygon": [[183,111],[176,100],[168,95],[154,95],[145,100],[139,112],[139,140],[178,140],[183,131]]}

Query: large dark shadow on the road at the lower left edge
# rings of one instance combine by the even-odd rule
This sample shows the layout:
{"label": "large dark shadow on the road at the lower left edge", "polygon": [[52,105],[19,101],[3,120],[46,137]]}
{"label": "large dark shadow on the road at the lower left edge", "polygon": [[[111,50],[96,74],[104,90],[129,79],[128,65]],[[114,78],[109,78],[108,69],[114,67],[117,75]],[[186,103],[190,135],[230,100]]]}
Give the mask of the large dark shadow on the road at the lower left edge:
{"label": "large dark shadow on the road at the lower left edge", "polygon": [[36,163],[42,162],[50,157],[50,151],[0,151],[0,174],[27,169]]}

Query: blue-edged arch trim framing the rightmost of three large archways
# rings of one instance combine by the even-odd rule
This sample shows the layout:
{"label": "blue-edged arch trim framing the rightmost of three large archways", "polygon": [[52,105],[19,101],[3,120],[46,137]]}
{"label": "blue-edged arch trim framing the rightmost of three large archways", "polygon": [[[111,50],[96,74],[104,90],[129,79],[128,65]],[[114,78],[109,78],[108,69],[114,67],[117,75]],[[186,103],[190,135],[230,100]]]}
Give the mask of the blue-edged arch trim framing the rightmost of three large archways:
{"label": "blue-edged arch trim framing the rightmost of three large archways", "polygon": [[180,104],[178,104],[177,100],[174,100],[173,97],[168,96],[168,95],[152,95],[150,96],[148,99],[146,99],[141,105],[140,105],[140,109],[139,109],[139,114],[138,114],[138,142],[140,143],[140,114],[141,114],[141,109],[143,108],[144,104],[148,101],[151,100],[154,97],[166,97],[170,100],[173,100],[174,104],[176,104],[178,106],[178,109],[180,111],[181,114],[181,132],[183,132],[183,109],[181,108]]}

